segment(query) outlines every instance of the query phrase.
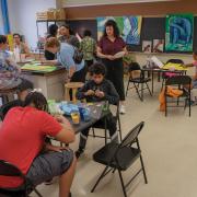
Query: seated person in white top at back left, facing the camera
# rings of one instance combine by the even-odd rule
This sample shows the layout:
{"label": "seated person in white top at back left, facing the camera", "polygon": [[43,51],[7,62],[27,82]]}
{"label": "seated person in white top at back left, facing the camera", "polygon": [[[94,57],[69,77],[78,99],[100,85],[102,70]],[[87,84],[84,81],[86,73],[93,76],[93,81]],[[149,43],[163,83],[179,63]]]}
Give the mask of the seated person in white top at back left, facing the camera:
{"label": "seated person in white top at back left, facing the camera", "polygon": [[24,57],[28,57],[30,49],[27,45],[22,40],[21,35],[18,33],[13,34],[13,40],[14,40],[14,55],[19,53],[20,55],[24,54]]}

